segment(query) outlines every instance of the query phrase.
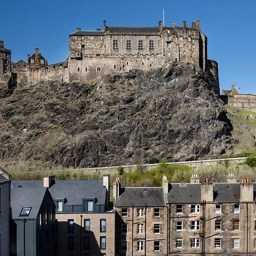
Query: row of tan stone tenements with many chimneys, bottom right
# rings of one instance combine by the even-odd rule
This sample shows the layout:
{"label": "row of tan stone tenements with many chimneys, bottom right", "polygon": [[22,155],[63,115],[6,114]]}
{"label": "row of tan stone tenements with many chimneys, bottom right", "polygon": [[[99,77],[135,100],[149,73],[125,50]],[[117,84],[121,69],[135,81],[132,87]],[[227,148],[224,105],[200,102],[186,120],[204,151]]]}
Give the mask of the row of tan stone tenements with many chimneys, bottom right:
{"label": "row of tan stone tenements with many chimneys, bottom right", "polygon": [[121,188],[117,180],[118,255],[255,255],[256,186],[249,179],[227,183],[169,184]]}

